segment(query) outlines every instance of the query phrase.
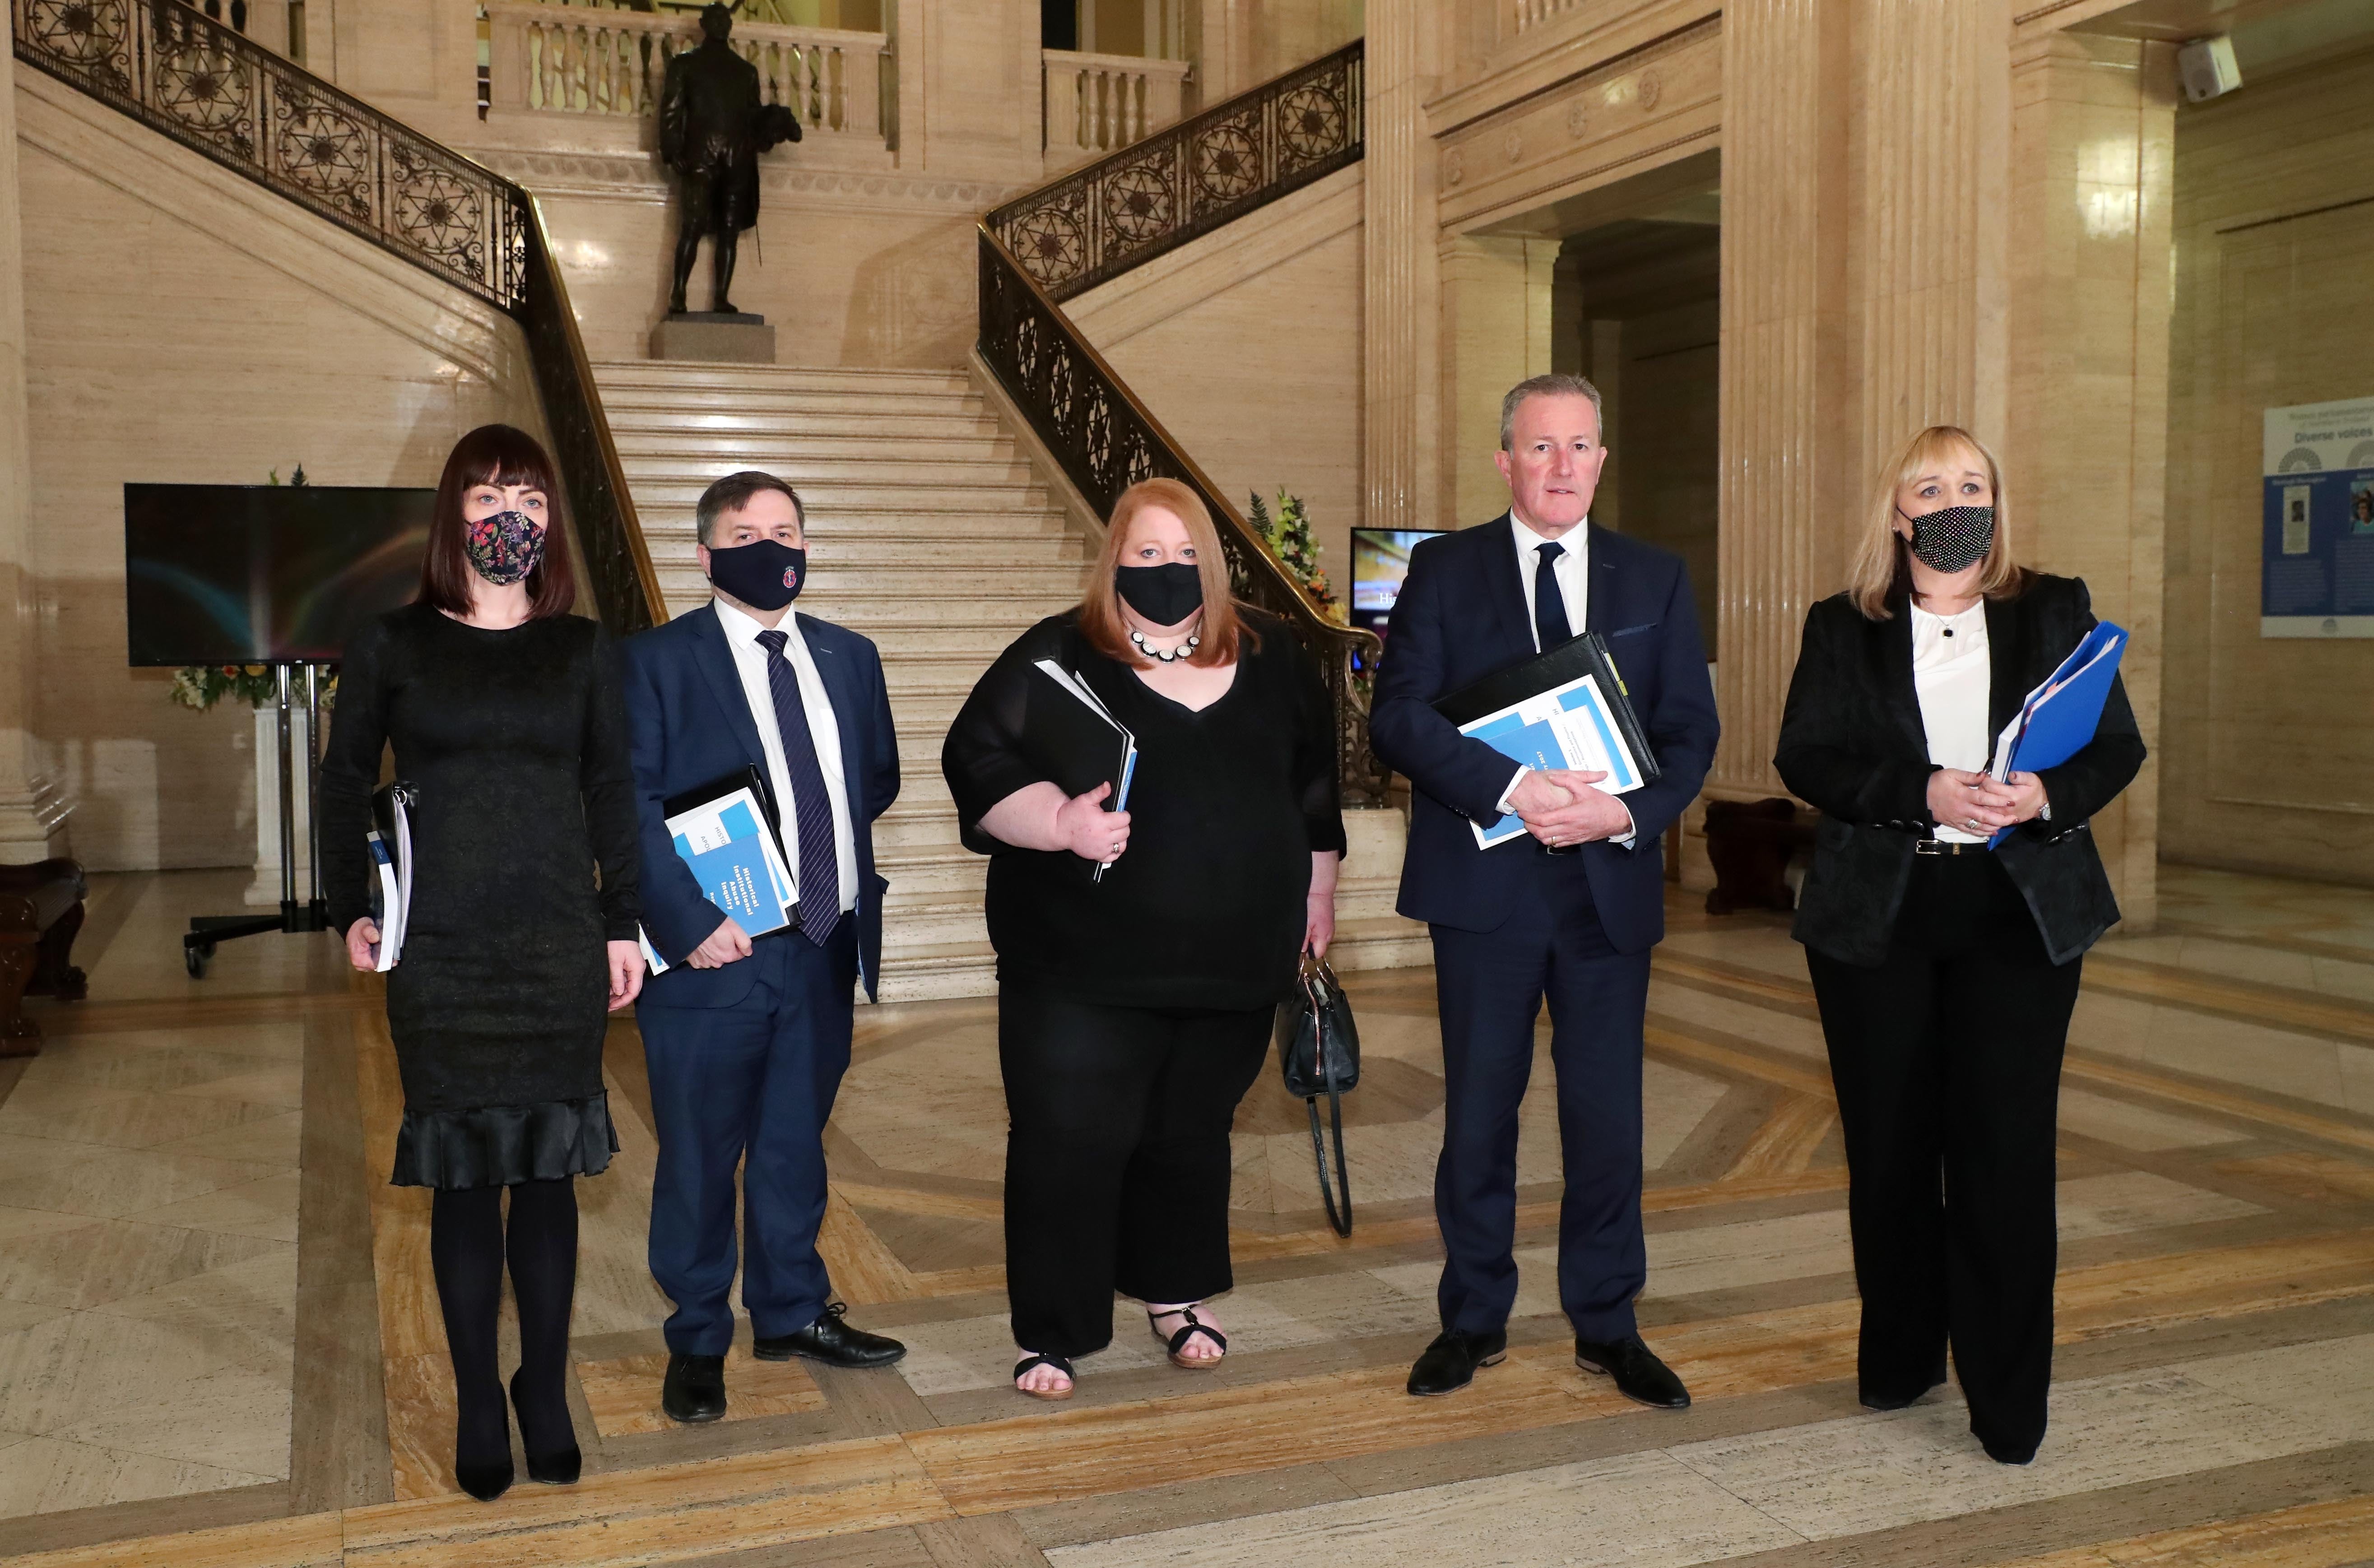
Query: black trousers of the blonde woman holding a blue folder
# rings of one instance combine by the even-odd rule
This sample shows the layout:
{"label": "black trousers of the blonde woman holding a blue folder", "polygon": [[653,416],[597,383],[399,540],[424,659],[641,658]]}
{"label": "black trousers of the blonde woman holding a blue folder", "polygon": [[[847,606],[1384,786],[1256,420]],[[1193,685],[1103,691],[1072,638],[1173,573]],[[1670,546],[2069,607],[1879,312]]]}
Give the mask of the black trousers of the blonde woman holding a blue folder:
{"label": "black trousers of the blonde woman holding a blue folder", "polygon": [[2044,956],[1992,854],[1916,856],[1887,961],[1807,949],[1847,1134],[1866,1400],[1944,1381],[1997,1459],[2044,1440],[2054,1124],[2077,958]]}

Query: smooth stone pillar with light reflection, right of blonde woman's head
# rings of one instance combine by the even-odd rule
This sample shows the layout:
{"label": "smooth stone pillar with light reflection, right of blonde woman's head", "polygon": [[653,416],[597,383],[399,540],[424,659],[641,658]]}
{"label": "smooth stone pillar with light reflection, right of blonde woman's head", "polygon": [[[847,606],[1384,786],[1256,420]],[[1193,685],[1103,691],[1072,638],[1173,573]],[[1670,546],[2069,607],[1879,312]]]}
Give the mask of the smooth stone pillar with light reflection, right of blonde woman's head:
{"label": "smooth stone pillar with light reflection, right of blonde woman's head", "polygon": [[[2132,633],[2127,700],[2160,733],[2175,52],[2054,33],[2011,74],[2006,522]],[[2127,930],[2158,916],[2158,764],[2094,818]]]}

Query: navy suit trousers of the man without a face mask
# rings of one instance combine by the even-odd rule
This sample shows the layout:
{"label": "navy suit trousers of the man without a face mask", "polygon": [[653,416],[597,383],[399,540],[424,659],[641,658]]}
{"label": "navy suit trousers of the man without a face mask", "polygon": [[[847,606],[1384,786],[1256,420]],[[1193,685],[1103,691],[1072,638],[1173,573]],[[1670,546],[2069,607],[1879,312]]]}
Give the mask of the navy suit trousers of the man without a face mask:
{"label": "navy suit trousers of the man without a face mask", "polygon": [[1557,1298],[1588,1340],[1633,1333],[1648,1279],[1640,1236],[1640,1051],[1648,954],[1600,930],[1581,863],[1531,844],[1510,861],[1510,916],[1496,932],[1434,932],[1443,1025],[1443,1328],[1491,1333],[1517,1302],[1517,1105],[1534,1070],[1534,1020],[1550,1001],[1557,1139]]}

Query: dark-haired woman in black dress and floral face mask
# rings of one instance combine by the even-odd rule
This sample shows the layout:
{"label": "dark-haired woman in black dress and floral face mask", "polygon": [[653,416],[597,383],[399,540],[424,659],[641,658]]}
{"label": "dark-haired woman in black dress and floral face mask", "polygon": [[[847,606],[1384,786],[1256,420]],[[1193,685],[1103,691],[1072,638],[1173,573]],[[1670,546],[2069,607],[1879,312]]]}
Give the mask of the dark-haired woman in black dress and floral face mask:
{"label": "dark-haired woman in black dress and floral face mask", "polygon": [[[520,1307],[527,1475],[577,1480],[567,1409],[577,1188],[610,1165],[605,1011],[643,989],[634,780],[610,648],[567,614],[575,576],[551,458],[508,425],[446,458],[420,598],[339,662],[320,771],[323,880],[370,970],[370,792],[380,752],[418,788],[411,925],[387,975],[404,1075],[396,1186],[434,1188],[430,1262],[453,1357],[453,1475],[510,1485],[494,1319],[506,1250]],[[598,868],[598,882],[596,882]],[[503,1193],[510,1222],[503,1222]]]}

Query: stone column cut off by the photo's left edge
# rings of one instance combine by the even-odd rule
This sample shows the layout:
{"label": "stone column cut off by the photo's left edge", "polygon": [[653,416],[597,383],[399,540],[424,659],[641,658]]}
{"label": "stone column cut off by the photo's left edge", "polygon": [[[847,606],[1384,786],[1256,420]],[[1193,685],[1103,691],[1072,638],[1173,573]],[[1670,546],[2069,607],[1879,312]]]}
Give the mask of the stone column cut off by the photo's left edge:
{"label": "stone column cut off by the photo's left edge", "polygon": [[17,209],[17,93],[0,93],[0,863],[64,854],[66,802],[33,742],[33,560],[26,491],[24,223]]}

